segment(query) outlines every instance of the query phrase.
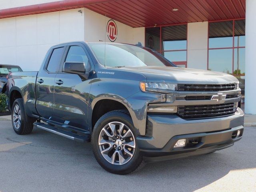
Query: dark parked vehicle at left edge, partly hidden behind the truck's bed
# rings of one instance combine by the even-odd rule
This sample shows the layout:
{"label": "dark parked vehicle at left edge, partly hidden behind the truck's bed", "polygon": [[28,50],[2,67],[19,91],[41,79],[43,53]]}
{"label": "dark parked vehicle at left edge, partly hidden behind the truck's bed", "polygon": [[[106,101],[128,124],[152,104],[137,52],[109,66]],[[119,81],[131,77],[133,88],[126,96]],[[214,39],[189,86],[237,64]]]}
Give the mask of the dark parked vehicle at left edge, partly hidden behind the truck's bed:
{"label": "dark parked vehicle at left edge, partly hidden behind the truck's bed", "polygon": [[0,93],[7,94],[7,78],[9,72],[21,72],[22,69],[17,65],[2,65],[0,64]]}

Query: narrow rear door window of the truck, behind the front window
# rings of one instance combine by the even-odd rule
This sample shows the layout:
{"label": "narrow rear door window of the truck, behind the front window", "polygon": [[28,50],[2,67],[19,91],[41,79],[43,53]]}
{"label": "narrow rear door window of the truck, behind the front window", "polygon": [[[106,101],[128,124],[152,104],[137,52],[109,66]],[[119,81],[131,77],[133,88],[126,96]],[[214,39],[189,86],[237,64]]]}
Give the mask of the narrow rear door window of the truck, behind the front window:
{"label": "narrow rear door window of the truck, behind the front window", "polygon": [[52,52],[52,56],[49,60],[47,70],[49,72],[58,72],[60,68],[60,62],[63,56],[64,47],[56,48]]}

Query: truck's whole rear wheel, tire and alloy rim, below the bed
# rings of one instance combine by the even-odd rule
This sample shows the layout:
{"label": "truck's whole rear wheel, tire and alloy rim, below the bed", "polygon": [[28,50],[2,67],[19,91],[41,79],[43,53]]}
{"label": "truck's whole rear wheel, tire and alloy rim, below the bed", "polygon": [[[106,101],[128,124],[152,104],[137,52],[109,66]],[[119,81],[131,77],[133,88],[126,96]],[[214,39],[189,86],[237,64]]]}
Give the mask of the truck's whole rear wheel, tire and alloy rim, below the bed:
{"label": "truck's whole rear wheel, tire and alloy rim, below the bed", "polygon": [[12,105],[12,127],[14,131],[19,135],[30,134],[35,121],[35,118],[26,115],[22,98],[16,99]]}

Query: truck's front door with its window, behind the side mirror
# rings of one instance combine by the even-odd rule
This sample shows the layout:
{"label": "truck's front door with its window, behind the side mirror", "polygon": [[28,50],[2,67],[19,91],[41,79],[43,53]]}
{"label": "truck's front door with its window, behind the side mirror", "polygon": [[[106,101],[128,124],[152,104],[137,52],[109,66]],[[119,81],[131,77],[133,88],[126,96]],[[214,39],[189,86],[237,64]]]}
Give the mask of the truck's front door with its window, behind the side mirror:
{"label": "truck's front door with its window, behind the side mirror", "polygon": [[[91,70],[86,50],[82,46],[70,46],[65,62],[84,62],[86,72]],[[90,79],[83,81],[77,74],[60,72],[56,75],[54,90],[54,120],[88,130]]]}

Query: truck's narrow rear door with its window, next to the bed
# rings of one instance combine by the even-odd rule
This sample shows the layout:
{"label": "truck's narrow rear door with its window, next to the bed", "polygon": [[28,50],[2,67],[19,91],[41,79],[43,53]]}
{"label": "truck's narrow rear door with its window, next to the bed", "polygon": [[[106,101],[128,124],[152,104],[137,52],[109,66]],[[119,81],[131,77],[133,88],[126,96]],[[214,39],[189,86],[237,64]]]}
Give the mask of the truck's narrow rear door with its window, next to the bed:
{"label": "truck's narrow rear door with its window, next to the bed", "polygon": [[51,120],[54,114],[55,76],[60,68],[65,48],[61,46],[52,49],[36,78],[36,109],[42,118],[48,120]]}

